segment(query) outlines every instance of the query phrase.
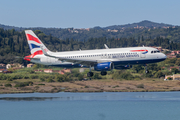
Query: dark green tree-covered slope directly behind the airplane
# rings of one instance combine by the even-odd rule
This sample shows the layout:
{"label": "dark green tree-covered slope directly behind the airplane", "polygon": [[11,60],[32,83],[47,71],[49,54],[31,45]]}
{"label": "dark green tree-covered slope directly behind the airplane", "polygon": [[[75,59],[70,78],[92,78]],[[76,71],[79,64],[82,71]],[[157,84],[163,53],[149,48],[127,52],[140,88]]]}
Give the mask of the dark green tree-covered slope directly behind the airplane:
{"label": "dark green tree-covered slope directly behind the airplane", "polygon": [[[170,50],[180,50],[179,43],[171,42],[169,39],[163,37],[145,38],[143,36],[139,36],[137,39],[135,37],[91,37],[86,41],[79,41],[78,39],[73,38],[59,39],[53,37],[52,35],[46,35],[39,30],[36,30],[35,34],[51,51],[104,49],[104,44],[107,44],[110,48],[145,45],[162,46],[163,48]],[[15,59],[14,57],[26,56],[29,54],[30,50],[24,31],[19,32],[15,31],[14,29],[4,30],[0,28],[0,63],[19,62],[27,64],[27,61]]]}

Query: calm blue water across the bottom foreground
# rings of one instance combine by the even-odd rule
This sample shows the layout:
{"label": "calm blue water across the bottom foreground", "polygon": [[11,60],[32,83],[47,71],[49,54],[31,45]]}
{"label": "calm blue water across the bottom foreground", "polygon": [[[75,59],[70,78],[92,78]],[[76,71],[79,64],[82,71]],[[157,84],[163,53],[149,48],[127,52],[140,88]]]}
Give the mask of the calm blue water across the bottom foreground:
{"label": "calm blue water across the bottom foreground", "polygon": [[0,120],[180,120],[180,92],[0,94]]}

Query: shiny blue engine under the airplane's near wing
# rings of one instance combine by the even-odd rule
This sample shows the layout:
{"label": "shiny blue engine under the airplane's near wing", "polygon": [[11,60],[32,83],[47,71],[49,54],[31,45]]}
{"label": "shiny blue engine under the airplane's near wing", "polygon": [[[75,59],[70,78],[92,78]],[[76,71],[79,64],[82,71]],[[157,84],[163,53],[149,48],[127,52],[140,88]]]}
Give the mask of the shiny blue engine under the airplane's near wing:
{"label": "shiny blue engine under the airplane's near wing", "polygon": [[103,63],[98,63],[94,65],[94,70],[96,71],[109,71],[114,68],[114,64],[111,62],[103,62]]}

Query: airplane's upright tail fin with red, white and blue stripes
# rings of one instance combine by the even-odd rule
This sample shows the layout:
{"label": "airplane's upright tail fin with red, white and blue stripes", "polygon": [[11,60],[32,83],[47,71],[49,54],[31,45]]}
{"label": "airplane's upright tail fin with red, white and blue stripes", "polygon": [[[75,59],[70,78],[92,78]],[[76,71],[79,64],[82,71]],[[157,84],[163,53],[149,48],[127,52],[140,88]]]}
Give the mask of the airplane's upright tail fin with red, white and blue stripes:
{"label": "airplane's upright tail fin with red, white and blue stripes", "polygon": [[25,30],[25,34],[26,34],[26,38],[29,44],[30,52],[33,55],[32,58],[35,55],[43,54],[40,46],[42,46],[46,52],[49,51],[46,48],[46,46],[41,42],[41,40],[34,34],[32,30]]}

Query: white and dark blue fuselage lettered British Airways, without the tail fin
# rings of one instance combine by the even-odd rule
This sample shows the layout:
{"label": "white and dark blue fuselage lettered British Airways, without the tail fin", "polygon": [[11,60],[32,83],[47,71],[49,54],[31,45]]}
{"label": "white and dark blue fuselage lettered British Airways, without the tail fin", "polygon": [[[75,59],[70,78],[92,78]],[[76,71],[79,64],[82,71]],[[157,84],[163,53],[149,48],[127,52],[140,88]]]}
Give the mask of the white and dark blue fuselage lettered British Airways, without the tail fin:
{"label": "white and dark blue fuselage lettered British Airways, without the tail fin", "polygon": [[[156,52],[154,52],[156,51]],[[152,47],[128,47],[128,48],[112,48],[112,49],[97,49],[97,50],[82,50],[82,51],[66,51],[66,52],[51,52],[50,55],[63,57],[73,60],[92,61],[92,62],[112,62],[114,65],[127,64],[146,64],[155,63],[166,59],[166,55],[160,53]],[[44,65],[62,65],[74,66],[76,63],[66,62],[58,58],[48,57],[45,55],[36,55],[31,62]],[[76,66],[77,67],[77,66]]]}

